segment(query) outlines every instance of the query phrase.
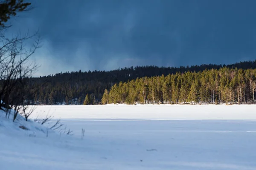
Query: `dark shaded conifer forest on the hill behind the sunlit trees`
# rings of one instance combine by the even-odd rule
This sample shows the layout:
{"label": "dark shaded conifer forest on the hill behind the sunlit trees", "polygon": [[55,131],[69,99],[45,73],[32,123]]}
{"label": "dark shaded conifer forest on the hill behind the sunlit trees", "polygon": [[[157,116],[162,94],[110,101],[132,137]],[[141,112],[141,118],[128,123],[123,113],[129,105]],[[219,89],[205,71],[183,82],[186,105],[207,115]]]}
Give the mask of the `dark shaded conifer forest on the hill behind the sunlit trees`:
{"label": "dark shaded conifer forest on the hill behind the sunlit trees", "polygon": [[[121,68],[112,71],[73,71],[58,73],[43,77],[24,78],[26,81],[25,91],[29,95],[30,104],[55,105],[55,104],[78,104],[82,105],[86,95],[90,98],[89,104],[99,104],[105,89],[108,91],[119,82],[132,82],[142,77],[157,77],[180,72],[202,72],[204,70],[221,68],[256,68],[255,61],[238,62],[230,65],[193,65],[175,67],[140,66]],[[165,78],[166,79],[166,78]],[[190,84],[188,85],[190,87]],[[188,88],[187,87],[187,88]],[[178,99],[179,101],[179,99]]]}

